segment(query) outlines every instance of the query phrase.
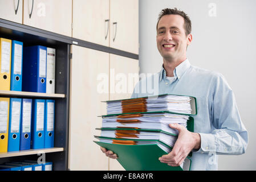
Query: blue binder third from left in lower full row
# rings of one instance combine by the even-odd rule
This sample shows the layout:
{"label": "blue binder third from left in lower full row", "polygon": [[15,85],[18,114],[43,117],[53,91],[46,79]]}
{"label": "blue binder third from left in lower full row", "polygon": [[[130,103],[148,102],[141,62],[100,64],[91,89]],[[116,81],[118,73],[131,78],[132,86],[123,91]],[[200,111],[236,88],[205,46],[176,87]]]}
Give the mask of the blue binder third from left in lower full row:
{"label": "blue binder third from left in lower full row", "polygon": [[30,150],[32,99],[22,99],[21,143],[19,150]]}

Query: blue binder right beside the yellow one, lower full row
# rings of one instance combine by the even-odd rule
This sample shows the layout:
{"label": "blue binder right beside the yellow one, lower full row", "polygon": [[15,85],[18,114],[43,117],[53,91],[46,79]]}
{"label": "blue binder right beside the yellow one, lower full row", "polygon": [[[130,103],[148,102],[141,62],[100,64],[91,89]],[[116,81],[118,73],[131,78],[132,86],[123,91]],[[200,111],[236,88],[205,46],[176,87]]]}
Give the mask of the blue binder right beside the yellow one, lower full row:
{"label": "blue binder right beside the yellow one, lower full row", "polygon": [[19,150],[21,127],[21,98],[10,98],[8,152]]}

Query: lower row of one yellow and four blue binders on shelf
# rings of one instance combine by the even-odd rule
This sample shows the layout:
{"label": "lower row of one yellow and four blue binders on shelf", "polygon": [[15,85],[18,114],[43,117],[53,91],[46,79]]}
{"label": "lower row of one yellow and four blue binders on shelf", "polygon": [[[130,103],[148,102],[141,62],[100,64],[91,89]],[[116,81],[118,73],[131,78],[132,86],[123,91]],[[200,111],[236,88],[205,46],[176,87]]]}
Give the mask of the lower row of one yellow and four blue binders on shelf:
{"label": "lower row of one yellow and four blue binders on shelf", "polygon": [[0,98],[0,152],[54,147],[55,101]]}

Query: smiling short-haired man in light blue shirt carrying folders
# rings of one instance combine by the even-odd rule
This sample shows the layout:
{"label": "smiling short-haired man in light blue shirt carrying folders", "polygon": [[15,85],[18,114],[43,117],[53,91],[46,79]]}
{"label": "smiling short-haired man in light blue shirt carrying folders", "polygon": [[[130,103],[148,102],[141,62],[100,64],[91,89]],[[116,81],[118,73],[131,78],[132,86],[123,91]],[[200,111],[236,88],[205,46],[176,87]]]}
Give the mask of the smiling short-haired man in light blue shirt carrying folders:
{"label": "smiling short-haired man in light blue shirt carrying folders", "polygon": [[[197,98],[194,133],[178,124],[169,126],[179,131],[173,150],[159,158],[169,166],[180,166],[190,151],[192,170],[217,170],[217,155],[245,153],[248,134],[238,113],[233,91],[220,74],[190,65],[186,48],[192,42],[191,21],[183,11],[164,9],[157,22],[157,49],[163,64],[159,73],[141,79],[132,97],[145,97],[141,86],[157,78],[158,94],[181,94]],[[112,151],[101,150],[116,159]]]}

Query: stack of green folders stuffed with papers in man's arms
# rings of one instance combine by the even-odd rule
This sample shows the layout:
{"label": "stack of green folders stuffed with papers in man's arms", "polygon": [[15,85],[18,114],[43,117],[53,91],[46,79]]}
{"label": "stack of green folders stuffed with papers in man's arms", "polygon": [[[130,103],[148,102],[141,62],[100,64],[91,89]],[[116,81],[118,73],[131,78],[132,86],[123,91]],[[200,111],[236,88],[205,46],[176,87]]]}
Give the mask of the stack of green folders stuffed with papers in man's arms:
{"label": "stack of green folders stuffed with papers in man's arms", "polygon": [[[107,102],[102,115],[100,146],[112,150],[127,170],[189,170],[192,152],[179,167],[170,167],[158,159],[168,154],[177,140],[178,131],[169,123],[179,123],[193,132],[197,114],[196,98],[162,94]],[[148,152],[151,151],[151,152]]]}

